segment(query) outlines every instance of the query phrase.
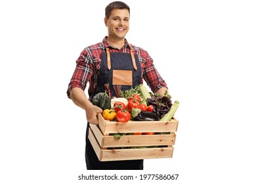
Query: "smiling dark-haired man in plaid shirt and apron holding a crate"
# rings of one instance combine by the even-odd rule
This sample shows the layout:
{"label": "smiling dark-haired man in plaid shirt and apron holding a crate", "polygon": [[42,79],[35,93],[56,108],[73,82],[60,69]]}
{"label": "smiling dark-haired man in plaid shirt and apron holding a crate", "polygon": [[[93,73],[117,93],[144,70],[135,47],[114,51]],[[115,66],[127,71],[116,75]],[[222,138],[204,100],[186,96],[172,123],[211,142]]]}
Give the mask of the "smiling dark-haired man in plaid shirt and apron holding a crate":
{"label": "smiling dark-haired man in plaid shirt and apron holding a crate", "polygon": [[[143,169],[143,159],[127,161],[98,161],[88,139],[89,123],[98,124],[97,114],[102,109],[87,99],[84,90],[89,82],[90,99],[98,92],[104,92],[104,84],[110,84],[115,95],[114,85],[121,90],[129,90],[146,81],[152,92],[163,95],[167,85],[156,70],[152,58],[137,46],[125,39],[129,31],[130,8],[121,1],[110,3],[105,9],[104,23],[108,36],[102,42],[85,48],[77,59],[74,75],[68,85],[68,97],[75,105],[86,112],[87,134],[85,159],[87,169]],[[120,79],[121,78],[121,79]]]}

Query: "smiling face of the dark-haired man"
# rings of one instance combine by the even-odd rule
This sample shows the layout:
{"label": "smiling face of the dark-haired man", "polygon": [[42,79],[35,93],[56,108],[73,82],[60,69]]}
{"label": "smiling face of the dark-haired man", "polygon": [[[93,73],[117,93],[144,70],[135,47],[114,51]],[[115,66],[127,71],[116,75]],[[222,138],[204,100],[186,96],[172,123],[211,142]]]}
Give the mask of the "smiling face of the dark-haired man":
{"label": "smiling face of the dark-haired man", "polygon": [[129,31],[129,11],[127,9],[114,9],[110,17],[105,18],[105,25],[108,27],[108,38],[124,39]]}

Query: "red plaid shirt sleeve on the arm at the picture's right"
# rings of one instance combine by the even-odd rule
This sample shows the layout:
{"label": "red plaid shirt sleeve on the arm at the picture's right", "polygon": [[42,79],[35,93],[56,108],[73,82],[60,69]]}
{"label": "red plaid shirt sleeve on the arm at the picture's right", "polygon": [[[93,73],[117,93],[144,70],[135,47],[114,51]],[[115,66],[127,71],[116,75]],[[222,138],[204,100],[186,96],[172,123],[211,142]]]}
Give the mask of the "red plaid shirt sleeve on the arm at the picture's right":
{"label": "red plaid shirt sleeve on the arm at the picture's right", "polygon": [[143,78],[145,82],[148,84],[152,92],[156,93],[160,88],[167,88],[167,84],[165,80],[161,77],[160,73],[154,66],[153,59],[149,56],[149,54],[145,51],[146,61],[144,65]]}

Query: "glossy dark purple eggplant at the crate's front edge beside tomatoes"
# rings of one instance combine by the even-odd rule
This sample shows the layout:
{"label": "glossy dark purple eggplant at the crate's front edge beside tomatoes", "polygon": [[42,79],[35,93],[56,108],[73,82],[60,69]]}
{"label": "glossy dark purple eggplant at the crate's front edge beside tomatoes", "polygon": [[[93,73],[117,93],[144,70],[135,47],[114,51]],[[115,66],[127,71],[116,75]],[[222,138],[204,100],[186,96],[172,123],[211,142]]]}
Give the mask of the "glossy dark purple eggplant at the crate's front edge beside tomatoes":
{"label": "glossy dark purple eggplant at the crate's front edge beside tomatoes", "polygon": [[133,121],[159,121],[158,114],[150,111],[142,111],[139,108],[132,110]]}

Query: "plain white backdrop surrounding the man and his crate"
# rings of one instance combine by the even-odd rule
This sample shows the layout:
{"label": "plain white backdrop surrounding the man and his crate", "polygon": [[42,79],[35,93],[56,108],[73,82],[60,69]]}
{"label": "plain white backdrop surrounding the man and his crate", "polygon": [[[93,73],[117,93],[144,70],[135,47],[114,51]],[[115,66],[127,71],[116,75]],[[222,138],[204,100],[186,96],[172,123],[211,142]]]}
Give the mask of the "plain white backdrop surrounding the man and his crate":
{"label": "plain white backdrop surrounding the man and his crate", "polygon": [[66,90],[80,52],[107,34],[110,2],[1,1],[0,182],[116,172],[255,182],[256,6],[246,0],[124,1],[127,40],[149,52],[180,101],[175,150],[141,172],[86,171],[85,112]]}

